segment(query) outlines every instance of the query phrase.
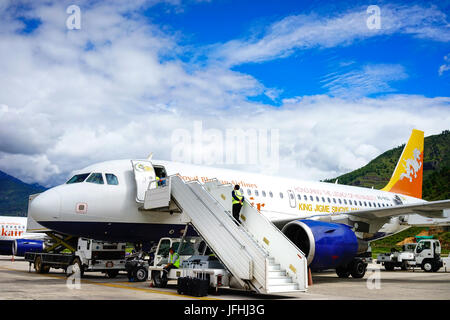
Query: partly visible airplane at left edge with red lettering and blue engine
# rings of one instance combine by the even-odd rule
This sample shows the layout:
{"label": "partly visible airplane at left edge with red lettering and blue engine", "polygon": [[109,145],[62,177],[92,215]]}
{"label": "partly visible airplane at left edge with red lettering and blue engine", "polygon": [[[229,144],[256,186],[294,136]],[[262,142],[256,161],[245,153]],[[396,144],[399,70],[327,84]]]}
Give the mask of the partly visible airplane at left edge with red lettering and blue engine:
{"label": "partly visible airplane at left edge with red lettering and blue engine", "polygon": [[26,217],[0,216],[0,254],[23,256],[25,252],[42,252],[45,235],[27,233]]}

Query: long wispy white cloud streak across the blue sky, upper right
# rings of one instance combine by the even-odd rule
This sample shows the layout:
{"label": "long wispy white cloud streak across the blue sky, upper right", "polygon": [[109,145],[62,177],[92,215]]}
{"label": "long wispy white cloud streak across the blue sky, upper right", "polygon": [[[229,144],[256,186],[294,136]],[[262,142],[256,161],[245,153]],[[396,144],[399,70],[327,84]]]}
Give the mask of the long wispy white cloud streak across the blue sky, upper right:
{"label": "long wispy white cloud streak across the blue sky, upper right", "polygon": [[211,57],[228,65],[283,58],[298,49],[346,46],[356,41],[394,33],[409,34],[434,41],[450,41],[446,15],[437,8],[423,6],[381,6],[381,28],[369,29],[367,7],[330,17],[288,16],[271,24],[263,36],[231,40],[215,47]]}

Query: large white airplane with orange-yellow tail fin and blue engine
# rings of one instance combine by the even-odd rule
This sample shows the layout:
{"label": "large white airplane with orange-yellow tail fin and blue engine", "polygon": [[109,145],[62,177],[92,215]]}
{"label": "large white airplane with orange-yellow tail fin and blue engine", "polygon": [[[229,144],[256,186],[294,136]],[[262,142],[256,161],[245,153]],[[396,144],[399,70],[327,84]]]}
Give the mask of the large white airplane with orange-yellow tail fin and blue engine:
{"label": "large white airplane with orange-yellow tail fin and blue engine", "polygon": [[[151,179],[178,175],[185,182],[205,183],[216,178],[239,185],[246,199],[305,253],[313,271],[336,269],[345,278],[356,268],[352,262],[357,256],[368,254],[370,242],[408,228],[408,215],[448,218],[450,200],[422,199],[423,146],[423,131],[414,129],[382,190],[170,161],[106,161],[74,171],[66,183],[38,195],[29,215],[63,234],[150,243],[180,236],[185,224],[171,212],[149,215],[139,210],[136,198],[148,182],[140,186],[136,170],[148,171]],[[333,259],[327,257],[331,255]],[[353,270],[352,276],[363,276],[365,267],[358,267],[359,276]]]}

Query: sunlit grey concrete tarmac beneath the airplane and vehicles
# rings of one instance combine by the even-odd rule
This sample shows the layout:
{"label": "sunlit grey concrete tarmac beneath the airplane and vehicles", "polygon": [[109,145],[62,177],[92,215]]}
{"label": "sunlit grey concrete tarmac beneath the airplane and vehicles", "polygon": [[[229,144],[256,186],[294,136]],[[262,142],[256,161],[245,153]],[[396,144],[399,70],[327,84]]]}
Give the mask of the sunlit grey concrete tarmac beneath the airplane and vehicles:
{"label": "sunlit grey concrete tarmac beneath the airplane and vehicles", "polygon": [[109,279],[99,272],[85,273],[79,284],[61,269],[37,274],[23,258],[0,256],[0,300],[449,300],[450,270],[427,273],[420,269],[385,271],[369,264],[363,279],[340,279],[333,271],[313,273],[307,292],[262,295],[220,289],[218,295],[179,295],[176,282],[167,288],[150,281],[128,282],[125,273]]}

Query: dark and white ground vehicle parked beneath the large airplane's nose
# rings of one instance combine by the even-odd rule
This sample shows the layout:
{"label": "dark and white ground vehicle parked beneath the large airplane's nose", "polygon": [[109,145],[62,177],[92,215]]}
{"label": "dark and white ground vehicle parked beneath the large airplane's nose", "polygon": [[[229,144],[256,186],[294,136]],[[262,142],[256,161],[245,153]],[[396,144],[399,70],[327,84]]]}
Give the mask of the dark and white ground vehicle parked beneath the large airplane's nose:
{"label": "dark and white ground vehicle parked beneath the large airplane's nose", "polygon": [[[54,237],[58,238],[55,235]],[[47,252],[25,253],[25,260],[29,262],[30,268],[34,264],[36,273],[48,273],[50,268],[55,268],[63,269],[70,275],[75,272],[73,266],[76,266],[81,276],[84,272],[91,271],[103,272],[109,278],[114,278],[119,274],[119,271],[125,270],[126,243],[78,238],[77,240],[72,239],[76,240],[76,248],[74,248],[68,243],[69,241],[65,242],[61,238],[59,239],[60,242],[51,246],[51,249]],[[62,246],[61,242],[65,245]],[[61,250],[64,247],[65,250]],[[58,248],[61,251],[57,250]]]}

